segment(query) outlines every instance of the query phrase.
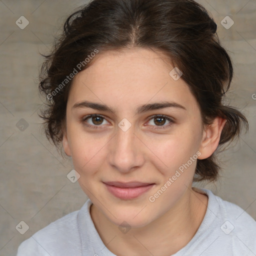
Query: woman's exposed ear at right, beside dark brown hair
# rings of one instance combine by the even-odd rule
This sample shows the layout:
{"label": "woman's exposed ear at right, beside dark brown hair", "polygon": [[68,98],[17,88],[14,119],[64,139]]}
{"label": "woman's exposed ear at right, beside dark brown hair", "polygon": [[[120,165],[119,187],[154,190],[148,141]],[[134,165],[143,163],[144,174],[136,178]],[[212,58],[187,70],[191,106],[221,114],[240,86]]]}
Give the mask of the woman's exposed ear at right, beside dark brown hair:
{"label": "woman's exposed ear at right, beside dark brown hair", "polygon": [[203,136],[199,147],[201,154],[198,156],[198,159],[205,159],[216,150],[225,123],[226,119],[217,116],[212,124],[206,125],[203,130]]}

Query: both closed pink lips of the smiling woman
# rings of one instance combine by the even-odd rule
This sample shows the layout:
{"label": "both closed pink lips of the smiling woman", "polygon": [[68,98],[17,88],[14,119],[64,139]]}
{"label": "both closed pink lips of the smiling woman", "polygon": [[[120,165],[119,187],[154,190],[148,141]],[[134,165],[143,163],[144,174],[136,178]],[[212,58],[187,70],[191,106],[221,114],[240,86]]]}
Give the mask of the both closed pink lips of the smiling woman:
{"label": "both closed pink lips of the smiling woman", "polygon": [[103,182],[107,190],[114,196],[120,199],[133,199],[146,191],[148,191],[154,183],[144,183],[139,181],[131,182],[119,182],[119,181],[107,181]]}

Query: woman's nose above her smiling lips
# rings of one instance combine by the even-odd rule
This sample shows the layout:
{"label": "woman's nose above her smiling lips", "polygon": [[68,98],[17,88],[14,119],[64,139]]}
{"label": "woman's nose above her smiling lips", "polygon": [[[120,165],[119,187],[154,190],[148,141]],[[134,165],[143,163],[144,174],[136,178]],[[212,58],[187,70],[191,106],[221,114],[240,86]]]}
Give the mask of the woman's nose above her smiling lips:
{"label": "woman's nose above her smiling lips", "polygon": [[109,164],[123,173],[137,169],[144,161],[143,146],[143,143],[134,133],[133,125],[126,131],[117,127],[117,132],[111,139],[108,148]]}

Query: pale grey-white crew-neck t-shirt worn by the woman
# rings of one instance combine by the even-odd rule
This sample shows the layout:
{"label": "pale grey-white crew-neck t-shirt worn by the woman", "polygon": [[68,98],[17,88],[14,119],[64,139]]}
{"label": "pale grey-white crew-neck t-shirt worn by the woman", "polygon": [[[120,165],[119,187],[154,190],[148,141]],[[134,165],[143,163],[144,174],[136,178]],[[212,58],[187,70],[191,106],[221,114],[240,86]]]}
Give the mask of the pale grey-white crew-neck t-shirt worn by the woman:
{"label": "pale grey-white crew-neck t-shirt worn by the woman", "polygon": [[[208,195],[205,216],[193,238],[172,255],[255,256],[256,221],[242,208],[222,200],[210,190],[199,190]],[[34,233],[19,245],[16,256],[116,256],[95,229],[90,205],[88,199],[80,210]]]}

